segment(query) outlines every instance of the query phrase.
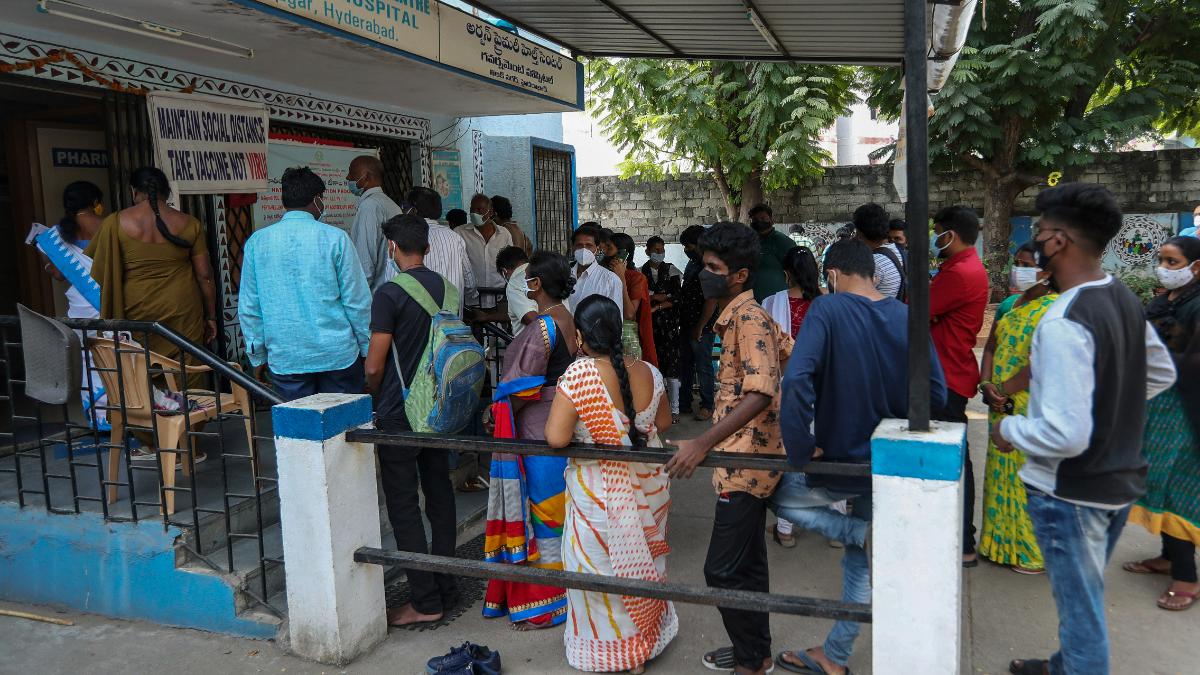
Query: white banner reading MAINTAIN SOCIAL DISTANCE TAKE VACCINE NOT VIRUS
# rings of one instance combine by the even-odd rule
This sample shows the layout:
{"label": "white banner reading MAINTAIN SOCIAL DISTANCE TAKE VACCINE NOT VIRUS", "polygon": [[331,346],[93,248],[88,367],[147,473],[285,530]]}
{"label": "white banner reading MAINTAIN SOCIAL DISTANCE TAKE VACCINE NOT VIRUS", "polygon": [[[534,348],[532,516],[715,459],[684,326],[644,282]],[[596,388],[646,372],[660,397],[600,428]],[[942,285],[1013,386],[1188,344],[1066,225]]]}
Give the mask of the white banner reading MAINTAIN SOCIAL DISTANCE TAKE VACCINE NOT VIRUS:
{"label": "white banner reading MAINTAIN SOCIAL DISTANCE TAKE VACCINE NOT VIRUS", "polygon": [[266,106],[151,91],[146,96],[158,168],[176,195],[266,190]]}

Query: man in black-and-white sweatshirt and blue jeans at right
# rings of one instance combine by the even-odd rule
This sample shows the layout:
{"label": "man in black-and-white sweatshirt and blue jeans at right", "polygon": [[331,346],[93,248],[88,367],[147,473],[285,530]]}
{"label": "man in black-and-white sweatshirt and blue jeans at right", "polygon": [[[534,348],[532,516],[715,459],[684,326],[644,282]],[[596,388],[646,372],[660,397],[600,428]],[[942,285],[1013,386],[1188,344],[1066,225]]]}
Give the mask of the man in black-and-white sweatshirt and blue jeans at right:
{"label": "man in black-and-white sweatshirt and blue jeans at right", "polygon": [[1104,567],[1130,504],[1146,491],[1146,400],[1175,382],[1170,352],[1141,301],[1100,267],[1121,209],[1099,185],[1038,195],[1038,267],[1060,289],[1033,333],[1026,414],[992,426],[1020,476],[1058,609],[1058,652],[1019,659],[1016,675],[1108,675]]}

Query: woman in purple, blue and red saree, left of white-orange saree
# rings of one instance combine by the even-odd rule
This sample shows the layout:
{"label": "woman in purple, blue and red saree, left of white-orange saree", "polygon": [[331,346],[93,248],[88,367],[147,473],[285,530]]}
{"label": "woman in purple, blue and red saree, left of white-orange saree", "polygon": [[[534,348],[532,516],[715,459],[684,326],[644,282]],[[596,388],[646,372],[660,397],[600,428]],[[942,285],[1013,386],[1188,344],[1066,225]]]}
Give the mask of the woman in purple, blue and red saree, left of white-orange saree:
{"label": "woman in purple, blue and red saree, left of white-orange saree", "polygon": [[[504,351],[504,370],[492,406],[494,436],[541,441],[556,386],[575,359],[578,341],[563,304],[575,279],[566,258],[538,251],[524,269],[526,293],[538,318]],[[484,560],[562,569],[563,472],[566,458],[492,454]],[[484,616],[508,615],[515,631],[547,628],[566,620],[563,589],[491,580]]]}

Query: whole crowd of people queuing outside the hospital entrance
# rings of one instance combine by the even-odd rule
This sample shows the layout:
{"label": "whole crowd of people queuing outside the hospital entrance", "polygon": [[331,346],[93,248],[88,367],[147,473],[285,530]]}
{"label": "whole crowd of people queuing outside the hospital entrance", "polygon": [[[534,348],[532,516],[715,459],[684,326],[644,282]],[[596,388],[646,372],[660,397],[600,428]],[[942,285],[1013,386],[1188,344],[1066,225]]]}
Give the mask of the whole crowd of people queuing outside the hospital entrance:
{"label": "whole crowd of people queuing outside the hospital entrance", "polygon": [[[449,227],[436,191],[413,189],[398,205],[380,189],[382,171],[374,157],[350,165],[359,211],[347,234],[320,222],[323,180],[288,169],[286,214],[246,244],[246,353],[283,398],[367,392],[377,428],[407,431],[404,401],[433,315],[463,313],[504,322],[514,335],[484,411],[496,437],[552,448],[676,447],[665,465],[493,454],[485,560],[664,581],[671,480],[690,478],[710,452],[786,456],[797,466],[865,462],[878,423],[907,417],[905,300],[910,275],[924,270],[908,265],[905,223],[877,204],[857,209],[824,251],[794,245],[770,208],[756,205],[750,226],[684,229],[683,270],[666,262],[661,237],[646,243],[648,262],[637,269],[625,233],[589,222],[574,232],[570,257],[532,250],[503,197],[476,196],[469,213],[446,214]],[[72,311],[95,294],[88,304],[96,316],[160,321],[211,340],[203,226],[167,205],[161,172],[134,172],[131,190],[134,205],[101,220],[98,189],[68,189],[58,233],[90,274],[72,279],[53,257],[48,270],[68,275],[79,295]],[[976,246],[980,223],[966,207],[934,216],[931,339],[913,348],[930,351],[936,419],[965,423],[977,395],[989,410],[978,546],[965,454],[964,567],[982,556],[1046,573],[1054,590],[1060,651],[1014,661],[1012,673],[1094,675],[1109,671],[1103,569],[1127,518],[1162,536],[1159,556],[1124,566],[1170,575],[1159,607],[1187,609],[1200,592],[1200,239],[1160,246],[1162,292],[1142,307],[1100,267],[1121,226],[1108,191],[1048,189],[1037,209],[982,368],[974,348],[989,285]],[[682,414],[712,424],[667,442]],[[452,556],[448,453],[382,444],[378,456],[397,546]],[[712,482],[709,586],[768,591],[767,533],[794,545],[800,527],[845,549],[842,598],[870,601],[869,478],[718,468]],[[776,518],[769,530],[768,512]],[[389,608],[390,623],[438,621],[455,604],[452,575],[413,569],[408,579],[412,599]],[[670,602],[498,580],[484,614],[508,616],[521,631],[564,625],[566,661],[587,671],[641,673],[678,632]],[[821,645],[775,653],[768,614],[720,615],[728,644],[701,657],[707,668],[848,673],[856,622],[836,622]]]}

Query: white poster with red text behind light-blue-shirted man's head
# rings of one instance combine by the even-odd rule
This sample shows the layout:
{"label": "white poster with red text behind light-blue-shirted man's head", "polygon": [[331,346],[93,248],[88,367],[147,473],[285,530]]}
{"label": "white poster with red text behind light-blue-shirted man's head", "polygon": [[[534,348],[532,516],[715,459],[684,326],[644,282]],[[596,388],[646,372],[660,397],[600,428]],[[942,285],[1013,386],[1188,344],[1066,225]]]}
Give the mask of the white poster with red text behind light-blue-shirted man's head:
{"label": "white poster with red text behind light-blue-shirted man's head", "polygon": [[271,139],[268,144],[266,167],[270,174],[270,186],[258,196],[254,203],[254,229],[278,222],[283,217],[283,202],[280,198],[280,179],[283,171],[293,167],[308,167],[325,181],[325,215],[322,221],[334,227],[350,232],[354,214],[359,208],[359,198],[350,193],[346,185],[346,172],[350,160],[359,155],[379,156],[376,148],[349,148],[343,145],[323,145],[316,143],[296,143],[294,141]]}

